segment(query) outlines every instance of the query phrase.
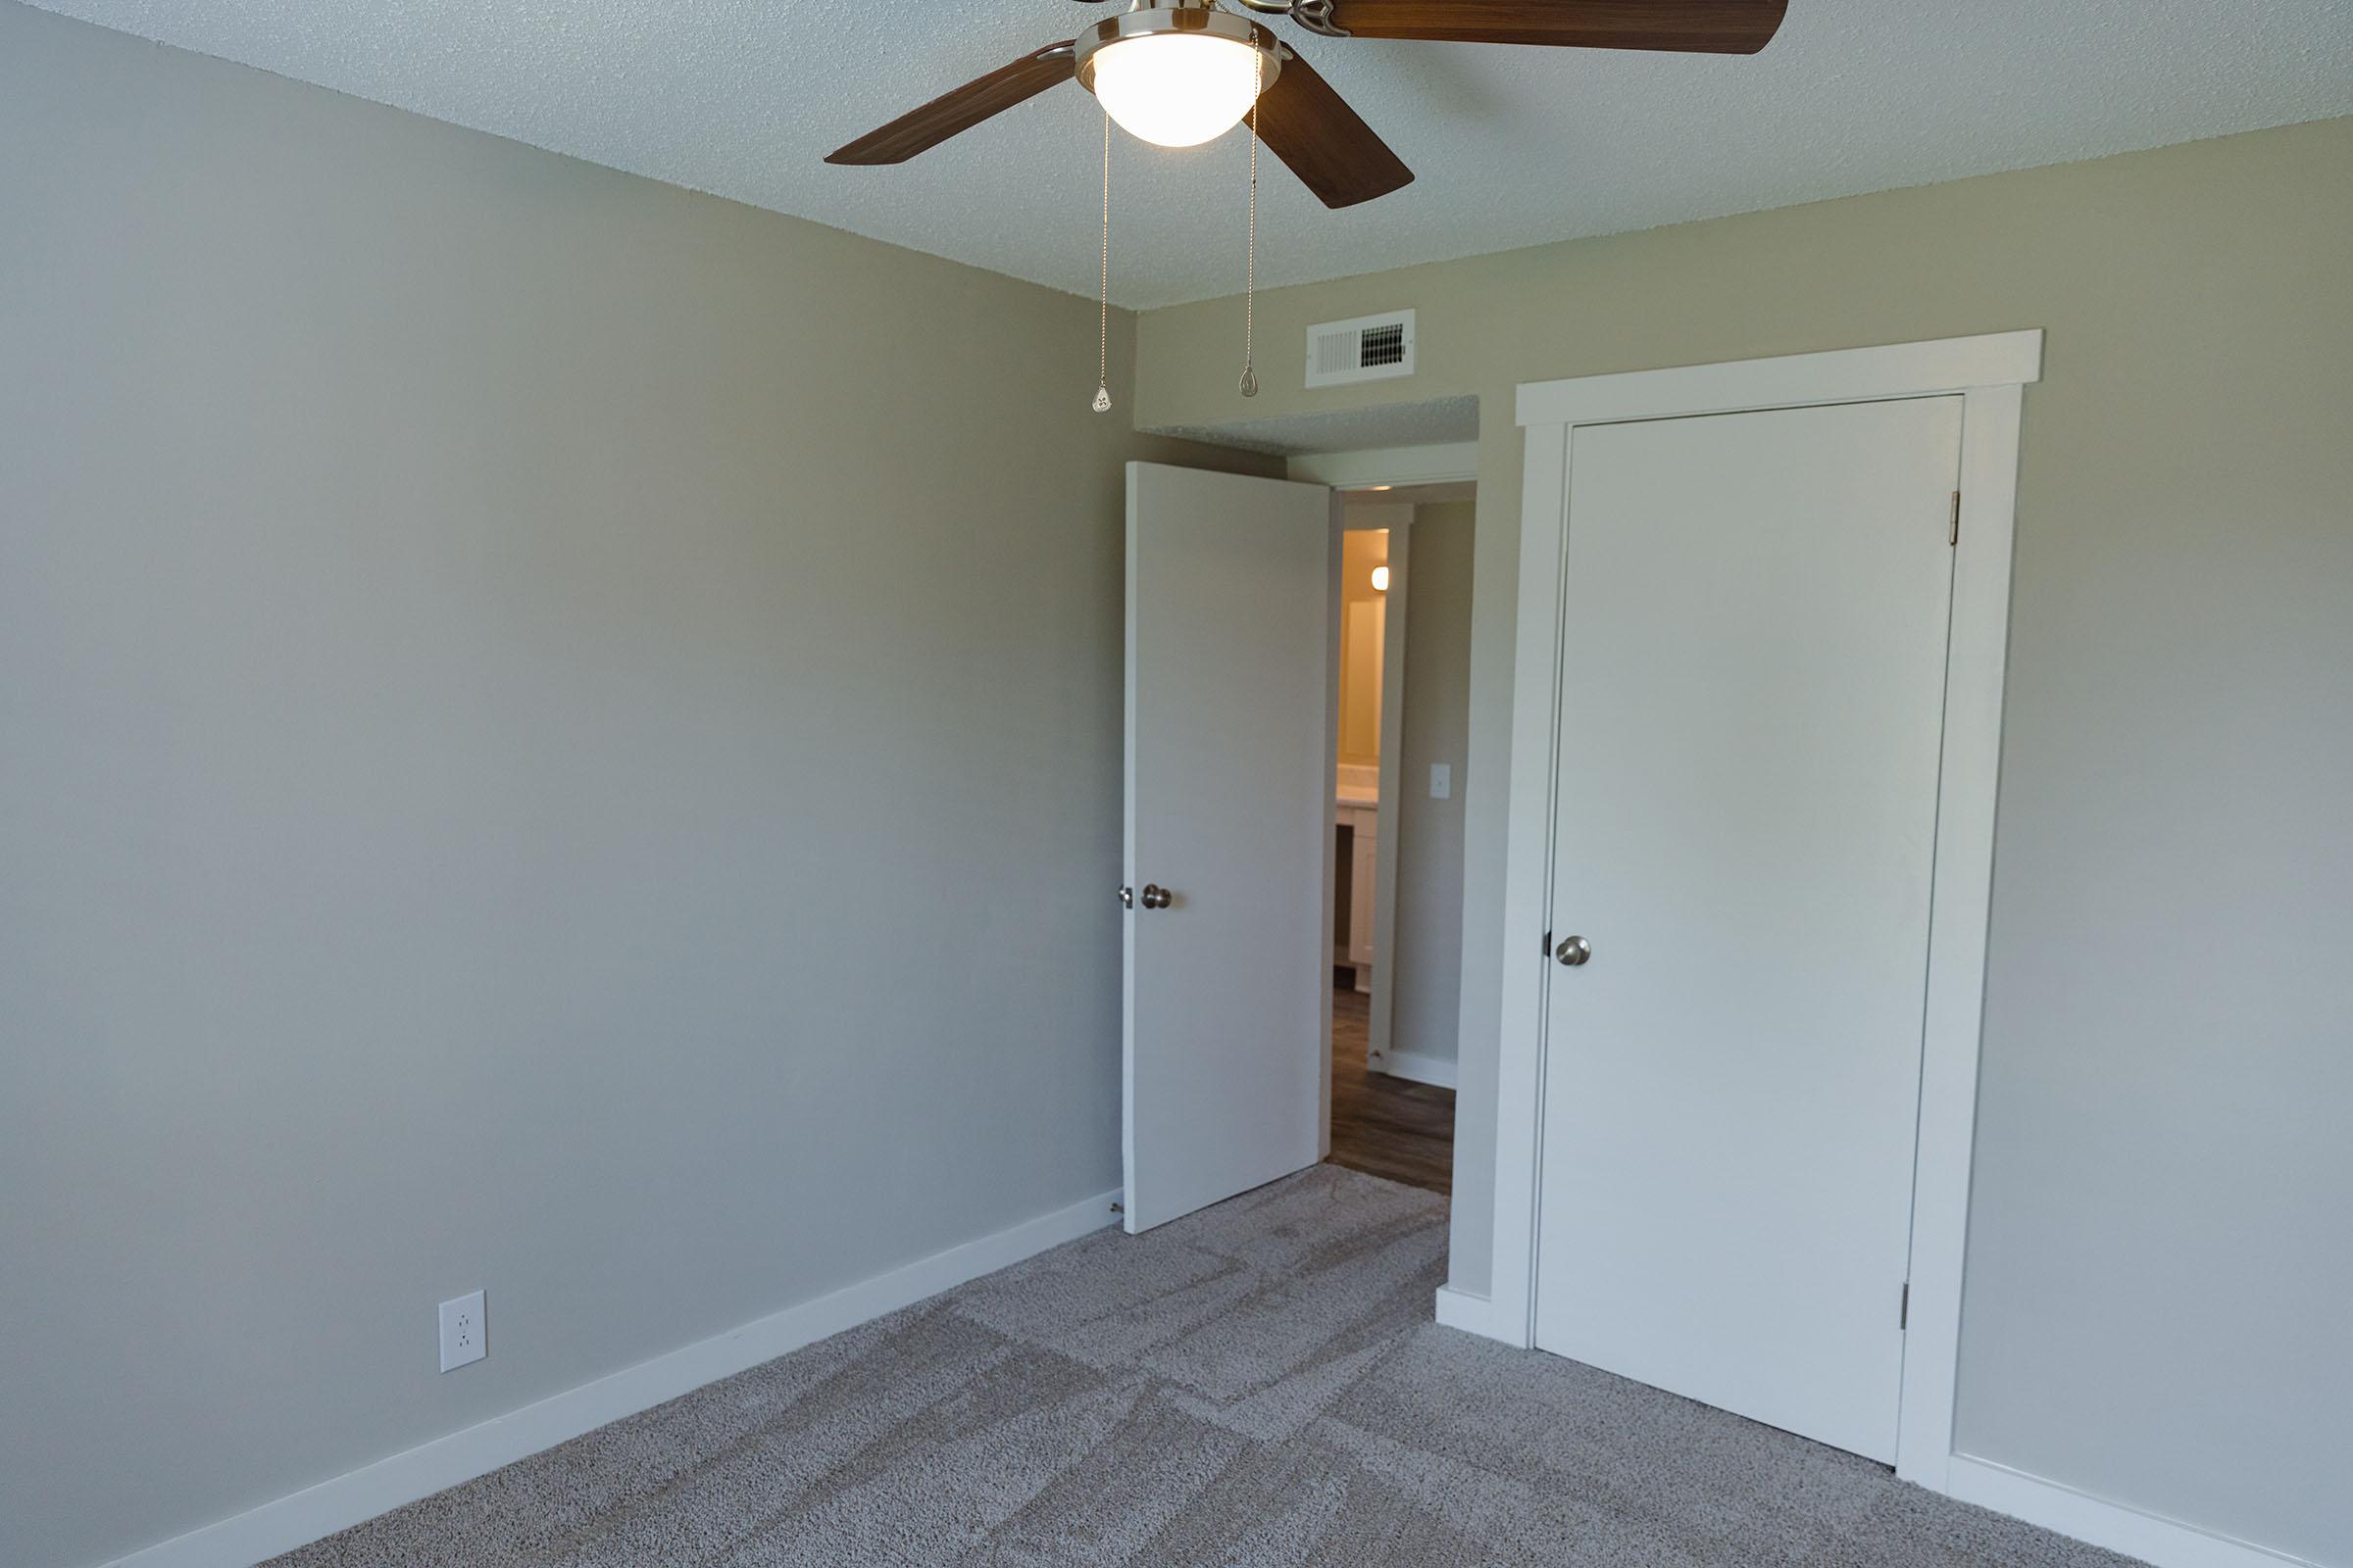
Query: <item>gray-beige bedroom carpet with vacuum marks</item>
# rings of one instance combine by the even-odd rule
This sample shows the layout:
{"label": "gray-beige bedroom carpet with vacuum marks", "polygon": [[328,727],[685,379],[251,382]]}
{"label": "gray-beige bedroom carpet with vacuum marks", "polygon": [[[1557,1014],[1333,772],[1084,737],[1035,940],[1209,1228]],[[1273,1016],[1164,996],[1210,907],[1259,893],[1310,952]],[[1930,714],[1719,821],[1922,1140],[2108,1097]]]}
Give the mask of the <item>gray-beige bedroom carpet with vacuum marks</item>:
{"label": "gray-beige bedroom carpet with vacuum marks", "polygon": [[2115,1568],[1431,1324],[1445,1201],[1318,1166],[1096,1232],[280,1568]]}

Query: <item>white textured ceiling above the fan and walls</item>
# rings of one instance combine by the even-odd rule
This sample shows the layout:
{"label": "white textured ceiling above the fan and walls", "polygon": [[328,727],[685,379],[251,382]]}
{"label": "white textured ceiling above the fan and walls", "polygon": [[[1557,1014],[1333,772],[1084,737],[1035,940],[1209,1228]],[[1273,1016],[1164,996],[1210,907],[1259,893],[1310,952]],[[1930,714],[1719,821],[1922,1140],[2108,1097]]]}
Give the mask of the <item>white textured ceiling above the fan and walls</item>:
{"label": "white textured ceiling above the fan and walls", "polygon": [[[7,2],[7,0],[0,0]],[[205,54],[1094,294],[1101,110],[1056,87],[894,169],[833,146],[1106,5],[40,0]],[[2353,113],[2353,0],[1791,0],[1765,54],[1320,40],[1419,172],[1325,212],[1280,167],[1259,282],[1619,233]],[[1242,287],[1245,139],[1113,155],[1113,299]]]}

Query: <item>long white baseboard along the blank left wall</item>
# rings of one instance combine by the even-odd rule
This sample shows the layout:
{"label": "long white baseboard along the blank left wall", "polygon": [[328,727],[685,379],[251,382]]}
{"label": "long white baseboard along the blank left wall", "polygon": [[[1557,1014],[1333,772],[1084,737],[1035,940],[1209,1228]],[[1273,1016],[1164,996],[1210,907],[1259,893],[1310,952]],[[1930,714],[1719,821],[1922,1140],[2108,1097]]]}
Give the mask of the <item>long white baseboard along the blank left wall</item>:
{"label": "long white baseboard along the blank left wall", "polygon": [[431,1497],[447,1486],[473,1481],[501,1465],[595,1432],[605,1422],[678,1399],[706,1382],[732,1378],[885,1312],[911,1307],[967,1279],[993,1274],[1049,1246],[1075,1241],[1111,1225],[1115,1201],[1120,1194],[1113,1190],[1024,1220],[993,1237],[951,1246],[887,1274],[842,1286],[831,1295],[786,1307],[666,1356],[640,1361],[520,1410],[494,1415],[475,1427],[344,1472],[332,1481],[264,1502],[233,1519],[174,1535],[118,1559],[111,1568],[249,1568],[261,1559],[348,1530],[405,1502]]}

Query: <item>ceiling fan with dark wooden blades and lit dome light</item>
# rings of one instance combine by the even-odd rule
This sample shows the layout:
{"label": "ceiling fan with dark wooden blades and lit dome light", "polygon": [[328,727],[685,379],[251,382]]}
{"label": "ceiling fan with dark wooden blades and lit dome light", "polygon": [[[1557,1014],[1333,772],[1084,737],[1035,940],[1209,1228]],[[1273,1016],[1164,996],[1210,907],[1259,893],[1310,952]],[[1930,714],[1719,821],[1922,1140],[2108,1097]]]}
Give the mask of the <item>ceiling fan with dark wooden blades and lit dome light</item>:
{"label": "ceiling fan with dark wooden blades and lit dome light", "polygon": [[[1096,0],[1080,0],[1082,5]],[[1325,38],[1428,38],[1755,54],[1788,0],[1235,0]],[[1353,207],[1412,183],[1414,172],[1292,45],[1217,0],[1134,0],[1078,38],[1047,45],[932,99],[826,155],[835,165],[906,162],[1047,87],[1078,80],[1129,134],[1184,148],[1259,108],[1259,141],[1325,207]]]}

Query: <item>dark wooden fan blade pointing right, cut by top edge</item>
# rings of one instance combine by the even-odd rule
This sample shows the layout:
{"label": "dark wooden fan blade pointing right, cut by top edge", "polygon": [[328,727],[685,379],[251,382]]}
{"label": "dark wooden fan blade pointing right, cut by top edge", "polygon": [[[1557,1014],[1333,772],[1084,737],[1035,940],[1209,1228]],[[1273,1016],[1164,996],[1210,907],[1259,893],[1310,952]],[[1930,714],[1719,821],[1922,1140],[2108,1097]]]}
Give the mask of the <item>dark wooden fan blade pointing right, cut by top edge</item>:
{"label": "dark wooden fan blade pointing right, cut by top edge", "polygon": [[1755,54],[1788,0],[1334,0],[1351,38]]}

